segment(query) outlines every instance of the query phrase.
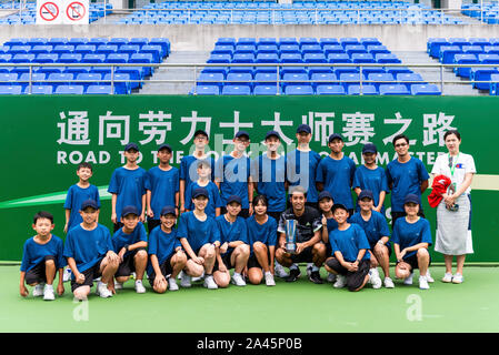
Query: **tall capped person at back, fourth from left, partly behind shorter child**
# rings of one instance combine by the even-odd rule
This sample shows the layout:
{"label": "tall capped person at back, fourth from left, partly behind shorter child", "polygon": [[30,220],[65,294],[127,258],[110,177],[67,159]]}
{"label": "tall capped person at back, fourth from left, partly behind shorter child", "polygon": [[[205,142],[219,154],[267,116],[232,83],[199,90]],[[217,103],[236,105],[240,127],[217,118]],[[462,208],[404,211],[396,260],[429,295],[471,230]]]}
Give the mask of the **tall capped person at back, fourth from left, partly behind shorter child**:
{"label": "tall capped person at back, fourth from left, partly behind shorter child", "polygon": [[[179,172],[179,195],[180,195],[180,213],[186,212],[186,204],[190,202],[190,200],[186,200],[186,191],[189,187],[191,182],[198,180],[198,161],[207,160],[210,163],[211,172],[214,173],[214,160],[213,158],[208,158],[208,154],[204,152],[206,146],[208,145],[210,139],[208,133],[203,130],[198,130],[194,132],[194,152],[192,155],[186,155],[180,161],[180,172]],[[211,175],[210,180],[213,180],[213,175]]]}

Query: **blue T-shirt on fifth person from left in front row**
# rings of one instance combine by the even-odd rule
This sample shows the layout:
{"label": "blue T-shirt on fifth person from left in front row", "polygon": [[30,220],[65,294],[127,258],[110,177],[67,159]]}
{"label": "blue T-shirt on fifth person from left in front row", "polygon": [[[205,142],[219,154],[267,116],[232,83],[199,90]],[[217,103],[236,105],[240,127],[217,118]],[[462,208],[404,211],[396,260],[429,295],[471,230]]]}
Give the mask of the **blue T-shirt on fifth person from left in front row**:
{"label": "blue T-shirt on fifth person from left in front row", "polygon": [[213,217],[208,215],[206,221],[199,221],[190,211],[180,215],[177,237],[187,239],[192,251],[198,254],[204,244],[220,242],[220,231]]}

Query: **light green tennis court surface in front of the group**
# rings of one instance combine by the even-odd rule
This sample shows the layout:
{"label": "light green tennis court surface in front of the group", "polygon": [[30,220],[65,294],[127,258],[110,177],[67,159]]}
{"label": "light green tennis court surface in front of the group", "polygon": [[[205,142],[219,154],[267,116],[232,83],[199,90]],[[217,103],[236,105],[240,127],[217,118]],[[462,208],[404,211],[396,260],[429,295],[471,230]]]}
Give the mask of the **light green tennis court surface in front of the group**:
{"label": "light green tennis court surface in front of the group", "polygon": [[276,280],[275,287],[211,291],[196,283],[159,295],[136,294],[129,281],[112,298],[92,293],[73,303],[69,283],[56,301],[33,298],[31,287],[22,298],[19,266],[0,266],[0,332],[499,332],[499,268],[466,267],[460,285],[440,282],[443,267],[430,270],[436,281],[426,291],[418,272],[412,286],[395,281],[395,290],[351,293],[312,284],[302,267],[298,282]]}

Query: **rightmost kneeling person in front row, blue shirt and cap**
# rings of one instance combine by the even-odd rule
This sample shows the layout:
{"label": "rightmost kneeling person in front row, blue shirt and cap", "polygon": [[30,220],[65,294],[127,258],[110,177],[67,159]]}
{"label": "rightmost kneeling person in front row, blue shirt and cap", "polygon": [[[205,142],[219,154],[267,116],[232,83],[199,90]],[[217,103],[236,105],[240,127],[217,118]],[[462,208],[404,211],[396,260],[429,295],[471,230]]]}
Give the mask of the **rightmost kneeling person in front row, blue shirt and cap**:
{"label": "rightmost kneeling person in front row, blue shirt and cap", "polygon": [[397,220],[391,242],[397,256],[395,274],[403,278],[405,285],[412,285],[415,268],[419,268],[419,288],[428,290],[428,267],[431,256],[428,246],[432,244],[430,222],[419,216],[420,199],[408,194],[403,200],[406,216]]}

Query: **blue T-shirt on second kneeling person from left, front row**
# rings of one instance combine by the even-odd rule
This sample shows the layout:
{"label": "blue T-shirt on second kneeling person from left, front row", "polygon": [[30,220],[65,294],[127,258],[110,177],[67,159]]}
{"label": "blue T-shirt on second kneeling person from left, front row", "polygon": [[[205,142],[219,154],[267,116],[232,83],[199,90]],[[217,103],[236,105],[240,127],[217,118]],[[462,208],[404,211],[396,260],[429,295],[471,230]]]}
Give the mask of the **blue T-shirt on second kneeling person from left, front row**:
{"label": "blue T-shirt on second kneeling person from left, front row", "polygon": [[107,226],[98,224],[93,230],[87,231],[77,225],[68,232],[63,255],[74,258],[78,271],[82,273],[113,250],[111,233]]}

